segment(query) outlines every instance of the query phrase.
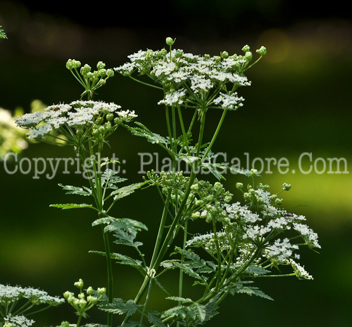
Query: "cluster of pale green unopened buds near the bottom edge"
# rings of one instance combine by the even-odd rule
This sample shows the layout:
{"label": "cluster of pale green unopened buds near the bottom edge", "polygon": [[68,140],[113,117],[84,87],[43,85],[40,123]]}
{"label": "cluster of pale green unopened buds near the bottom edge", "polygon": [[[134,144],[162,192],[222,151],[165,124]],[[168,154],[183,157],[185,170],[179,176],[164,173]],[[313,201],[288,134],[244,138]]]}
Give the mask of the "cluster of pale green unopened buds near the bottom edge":
{"label": "cluster of pale green unopened buds near the bottom edge", "polygon": [[[67,302],[76,310],[76,314],[78,315],[77,327],[79,326],[79,322],[81,317],[86,318],[86,311],[91,309],[94,305],[98,303],[98,301],[102,298],[102,296],[106,293],[105,287],[98,288],[97,291],[93,289],[92,286],[86,289],[86,295],[83,293],[83,280],[79,279],[74,283],[79,289],[79,294],[77,297],[74,296],[73,292],[66,291],[63,293],[64,298]],[[68,327],[70,324],[68,321],[62,321],[62,327]]]}

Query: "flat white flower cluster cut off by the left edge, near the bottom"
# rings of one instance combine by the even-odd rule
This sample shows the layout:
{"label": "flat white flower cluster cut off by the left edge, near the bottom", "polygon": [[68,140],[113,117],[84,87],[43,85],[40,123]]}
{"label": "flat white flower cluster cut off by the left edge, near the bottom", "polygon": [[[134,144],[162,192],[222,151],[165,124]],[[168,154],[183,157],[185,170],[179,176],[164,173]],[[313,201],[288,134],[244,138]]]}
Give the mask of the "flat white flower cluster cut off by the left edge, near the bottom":
{"label": "flat white flower cluster cut off by the left edge, near the bottom", "polygon": [[50,304],[58,305],[65,300],[57,296],[50,296],[47,292],[32,288],[21,286],[10,286],[0,284],[0,300],[6,302],[18,301],[21,298],[30,300],[33,304]]}

